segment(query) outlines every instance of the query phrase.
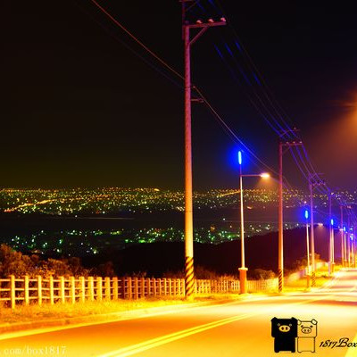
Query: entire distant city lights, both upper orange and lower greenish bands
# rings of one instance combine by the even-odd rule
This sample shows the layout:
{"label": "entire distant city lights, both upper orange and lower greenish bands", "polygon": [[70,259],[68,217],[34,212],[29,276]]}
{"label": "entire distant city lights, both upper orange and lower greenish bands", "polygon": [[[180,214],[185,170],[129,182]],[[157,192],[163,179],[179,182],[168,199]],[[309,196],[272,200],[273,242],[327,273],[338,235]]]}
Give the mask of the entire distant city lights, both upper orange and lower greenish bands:
{"label": "entire distant city lights, both upper orange and lower greenish bands", "polygon": [[[203,219],[195,224],[195,242],[220,244],[240,238],[237,193],[234,189],[195,193],[195,211],[203,212]],[[336,196],[343,196],[351,203],[357,202],[356,192],[338,192]],[[278,230],[276,192],[247,189],[244,199],[246,211],[257,212],[254,216],[256,219],[247,219],[245,222],[246,237]],[[288,190],[284,193],[286,211],[306,207],[308,202],[309,196],[302,191]],[[328,197],[316,194],[314,203],[317,212],[324,212]],[[52,190],[5,188],[0,191],[0,211],[3,220],[9,217],[12,222],[7,230],[0,227],[0,244],[11,245],[24,253],[87,256],[129,245],[184,240],[182,191],[118,187]],[[158,223],[158,218],[164,214],[167,217],[172,212],[172,217],[179,217],[179,220],[170,216],[164,224]],[[264,212],[273,212],[267,217],[274,216],[274,219],[263,217]],[[143,215],[153,219],[140,220]],[[37,220],[38,217],[40,221],[37,226],[28,228],[26,222],[20,223],[22,219]],[[46,228],[42,228],[42,220],[46,220]],[[303,224],[303,220],[286,219],[284,228],[298,228]]]}

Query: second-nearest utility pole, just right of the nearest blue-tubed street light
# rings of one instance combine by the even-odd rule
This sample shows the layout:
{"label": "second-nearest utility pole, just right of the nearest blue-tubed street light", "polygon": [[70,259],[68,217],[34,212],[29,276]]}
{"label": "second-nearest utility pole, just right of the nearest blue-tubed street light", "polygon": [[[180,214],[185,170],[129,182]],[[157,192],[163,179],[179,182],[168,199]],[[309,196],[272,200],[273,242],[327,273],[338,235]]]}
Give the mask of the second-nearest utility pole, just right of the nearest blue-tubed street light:
{"label": "second-nearest utility pole, just right of the nearest blue-tubed street light", "polygon": [[296,132],[296,129],[283,131],[279,135],[278,143],[278,292],[281,293],[284,288],[284,225],[283,225],[283,209],[284,209],[284,197],[283,197],[283,147],[303,145],[302,141],[283,141],[282,137],[286,136],[288,132]]}

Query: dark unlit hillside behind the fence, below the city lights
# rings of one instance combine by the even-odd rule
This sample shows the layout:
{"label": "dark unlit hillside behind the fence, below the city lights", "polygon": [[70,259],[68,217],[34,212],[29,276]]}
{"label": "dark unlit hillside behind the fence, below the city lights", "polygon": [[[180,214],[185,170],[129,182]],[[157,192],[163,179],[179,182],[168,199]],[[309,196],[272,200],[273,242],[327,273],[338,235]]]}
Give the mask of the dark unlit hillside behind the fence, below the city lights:
{"label": "dark unlit hillside behind the fence, below the city lights", "polygon": [[[296,228],[284,232],[284,264],[287,270],[295,268],[295,262],[306,257],[306,230]],[[335,239],[336,257],[340,256],[339,236]],[[328,229],[315,228],[315,252],[328,260]],[[160,277],[166,271],[184,268],[184,243],[153,243],[130,246],[111,252],[105,260],[114,263],[118,275],[146,272],[146,276]],[[92,265],[94,262],[85,261]],[[97,262],[96,262],[97,263]],[[220,274],[236,274],[240,266],[240,241],[220,245],[195,244],[195,265]],[[245,265],[249,270],[278,270],[278,233],[245,239]]]}

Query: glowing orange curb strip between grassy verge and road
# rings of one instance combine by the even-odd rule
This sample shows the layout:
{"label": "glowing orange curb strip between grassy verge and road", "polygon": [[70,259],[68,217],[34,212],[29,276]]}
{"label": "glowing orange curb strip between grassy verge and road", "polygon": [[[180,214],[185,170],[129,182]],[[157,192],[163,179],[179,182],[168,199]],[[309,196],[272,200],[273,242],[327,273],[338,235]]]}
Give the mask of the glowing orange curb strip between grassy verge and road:
{"label": "glowing orange curb strip between grassy verge and road", "polygon": [[37,329],[37,328],[54,328],[77,324],[90,324],[100,322],[115,322],[120,320],[132,320],[144,318],[155,313],[169,313],[171,311],[180,311],[187,308],[195,308],[200,306],[209,306],[214,304],[228,303],[234,300],[216,300],[197,303],[170,304],[166,306],[157,306],[144,309],[135,309],[129,311],[110,312],[98,315],[87,315],[73,318],[53,319],[53,320],[38,320],[29,322],[5,323],[0,325],[0,335],[21,330]]}

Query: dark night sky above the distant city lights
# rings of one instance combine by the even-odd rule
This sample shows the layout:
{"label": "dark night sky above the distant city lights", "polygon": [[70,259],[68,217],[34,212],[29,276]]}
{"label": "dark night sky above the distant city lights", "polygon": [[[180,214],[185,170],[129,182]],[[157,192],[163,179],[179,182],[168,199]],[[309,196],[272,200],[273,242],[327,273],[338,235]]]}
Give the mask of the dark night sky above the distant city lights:
{"label": "dark night sky above the distant city lights", "polygon": [[[98,2],[182,72],[179,2]],[[356,11],[345,2],[220,4],[317,170],[331,186],[354,189]],[[90,0],[13,0],[0,11],[1,187],[183,187],[183,92],[145,61],[162,71],[158,62]],[[277,168],[277,136],[214,50],[232,38],[228,27],[200,38],[193,80]],[[237,185],[237,145],[203,104],[193,107],[193,143],[196,189]],[[291,183],[306,187],[287,155],[285,165]]]}

